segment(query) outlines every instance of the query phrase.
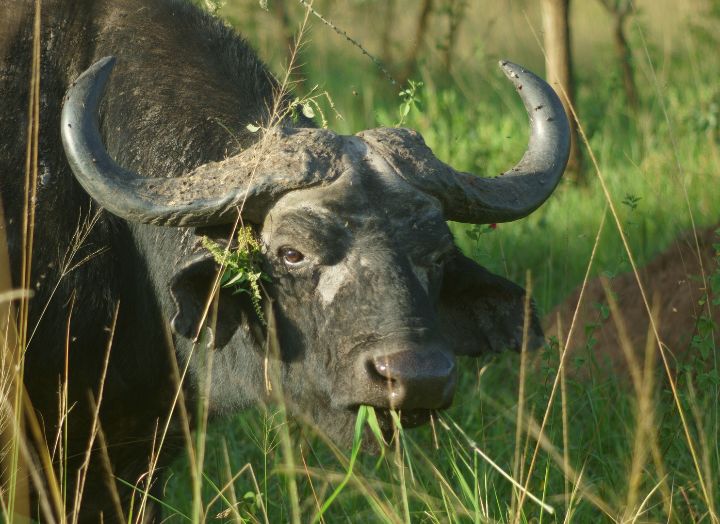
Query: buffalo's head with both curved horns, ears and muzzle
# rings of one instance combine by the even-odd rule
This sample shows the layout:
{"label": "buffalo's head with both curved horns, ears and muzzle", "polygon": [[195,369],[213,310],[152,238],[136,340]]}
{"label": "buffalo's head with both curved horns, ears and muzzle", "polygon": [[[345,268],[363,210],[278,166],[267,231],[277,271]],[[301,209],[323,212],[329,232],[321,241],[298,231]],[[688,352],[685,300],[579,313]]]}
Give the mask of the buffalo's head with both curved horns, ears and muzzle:
{"label": "buffalo's head with both curved horns, ears and muzzle", "polygon": [[[520,347],[523,289],[462,256],[446,220],[517,220],[559,183],[567,117],[533,73],[500,63],[531,134],[518,166],[495,178],[438,161],[413,130],[340,136],[289,127],[186,176],[145,178],[117,166],[100,136],[99,100],[113,64],[100,60],[68,92],[62,136],[78,181],[133,222],[194,227],[197,235],[225,231],[238,217],[253,225],[272,280],[282,387],[336,441],[349,442],[359,405],[402,410],[407,426],[423,423],[451,405],[457,355]],[[215,260],[201,252],[166,282],[179,348],[197,335],[215,274]],[[248,299],[221,294],[210,399],[218,411],[240,389],[246,404],[266,398],[260,325]],[[531,346],[541,343],[535,314],[530,336]]]}

